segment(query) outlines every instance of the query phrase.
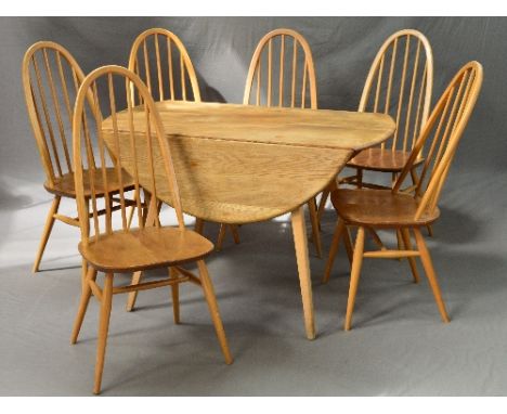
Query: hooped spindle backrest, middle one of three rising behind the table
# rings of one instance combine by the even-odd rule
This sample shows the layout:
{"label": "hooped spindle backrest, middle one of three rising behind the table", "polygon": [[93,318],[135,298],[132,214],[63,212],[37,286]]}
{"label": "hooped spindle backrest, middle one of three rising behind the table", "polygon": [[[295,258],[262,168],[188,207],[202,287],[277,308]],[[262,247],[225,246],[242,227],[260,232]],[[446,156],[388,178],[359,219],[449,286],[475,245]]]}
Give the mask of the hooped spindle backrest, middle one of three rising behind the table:
{"label": "hooped spindle backrest, middle one of three rising behind the table", "polygon": [[[301,47],[303,51],[303,79],[302,79],[302,88],[301,88],[301,107],[304,107],[306,103],[306,93],[307,93],[307,81],[308,81],[308,87],[309,87],[309,98],[310,98],[310,108],[316,109],[317,108],[317,94],[316,94],[316,76],[315,76],[315,66],[313,63],[313,56],[312,56],[312,51],[310,49],[310,46],[296,30],[292,29],[287,29],[287,28],[278,28],[275,30],[272,30],[268,33],[265,36],[262,37],[262,39],[259,41],[257,44],[257,48],[253,52],[253,55],[250,61],[250,66],[248,69],[248,75],[245,83],[245,93],[243,96],[243,104],[244,105],[249,105],[250,104],[250,98],[251,98],[251,89],[253,85],[253,78],[256,76],[256,73],[258,75],[258,85],[257,85],[257,105],[260,104],[260,88],[261,88],[261,79],[260,79],[260,73],[261,73],[261,65],[260,65],[260,60],[261,60],[261,54],[264,50],[264,48],[268,47],[268,98],[266,98],[266,106],[272,106],[274,103],[271,100],[272,95],[272,82],[271,82],[271,74],[272,74],[272,67],[271,67],[271,61],[272,61],[272,41],[274,38],[281,37],[281,62],[285,59],[285,37],[291,38],[294,41],[294,49],[292,49],[292,63],[291,63],[291,72],[292,72],[292,78],[291,78],[291,99],[290,99],[290,106],[295,107],[295,101],[296,101],[296,77],[297,77],[297,50],[298,50],[298,44]],[[278,78],[278,102],[276,106],[288,106],[284,105],[283,103],[283,94],[284,94],[284,67],[283,64],[281,63],[281,68],[280,68],[280,78]],[[308,80],[307,80],[308,78]]]}

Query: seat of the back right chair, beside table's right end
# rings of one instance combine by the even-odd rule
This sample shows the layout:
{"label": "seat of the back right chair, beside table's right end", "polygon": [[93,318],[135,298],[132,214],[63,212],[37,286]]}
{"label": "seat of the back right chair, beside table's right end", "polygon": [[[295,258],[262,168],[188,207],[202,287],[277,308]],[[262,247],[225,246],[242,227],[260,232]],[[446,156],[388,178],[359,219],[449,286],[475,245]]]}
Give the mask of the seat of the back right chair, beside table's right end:
{"label": "seat of the back right chair, beside table's right end", "polygon": [[[382,148],[367,148],[360,152],[347,163],[347,167],[362,168],[373,171],[400,172],[408,161],[411,153]],[[424,158],[414,161],[414,166],[422,163]]]}

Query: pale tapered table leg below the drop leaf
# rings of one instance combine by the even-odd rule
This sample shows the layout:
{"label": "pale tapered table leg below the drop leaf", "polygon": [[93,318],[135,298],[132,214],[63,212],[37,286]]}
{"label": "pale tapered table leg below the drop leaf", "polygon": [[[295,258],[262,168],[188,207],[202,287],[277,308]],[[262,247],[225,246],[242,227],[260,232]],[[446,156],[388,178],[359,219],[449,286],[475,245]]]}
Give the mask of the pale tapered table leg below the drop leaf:
{"label": "pale tapered table leg below the drop leaf", "polygon": [[310,277],[310,260],[308,258],[307,227],[304,210],[299,207],[290,215],[292,221],[294,245],[298,262],[299,284],[303,303],[304,327],[308,339],[315,338],[315,321],[313,316],[312,280]]}

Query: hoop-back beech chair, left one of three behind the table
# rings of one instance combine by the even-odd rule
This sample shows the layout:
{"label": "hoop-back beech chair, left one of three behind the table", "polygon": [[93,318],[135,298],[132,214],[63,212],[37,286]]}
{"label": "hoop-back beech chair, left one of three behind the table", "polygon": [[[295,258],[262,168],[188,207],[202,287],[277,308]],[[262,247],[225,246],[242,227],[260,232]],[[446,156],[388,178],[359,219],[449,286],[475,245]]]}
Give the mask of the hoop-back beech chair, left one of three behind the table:
{"label": "hoop-back beech chair, left one of three behind the table", "polygon": [[[129,69],[144,80],[155,101],[202,102],[194,65],[185,46],[172,31],[152,28],[140,34],[130,50]],[[231,230],[234,242],[239,243],[236,225],[222,223],[217,250],[222,247],[225,228]],[[194,230],[203,234],[202,219],[196,218]]]}

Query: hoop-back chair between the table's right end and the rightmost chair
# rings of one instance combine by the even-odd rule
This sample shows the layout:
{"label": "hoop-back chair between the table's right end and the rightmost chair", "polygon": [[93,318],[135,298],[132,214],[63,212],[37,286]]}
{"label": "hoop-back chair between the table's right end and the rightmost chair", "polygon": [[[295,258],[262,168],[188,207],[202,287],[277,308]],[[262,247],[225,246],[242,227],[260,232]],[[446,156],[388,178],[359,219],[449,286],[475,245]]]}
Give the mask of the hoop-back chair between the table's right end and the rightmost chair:
{"label": "hoop-back chair between the table's right end and the rightmost chair", "polygon": [[[433,54],[425,35],[413,29],[391,35],[372,63],[358,111],[391,115],[396,129],[388,142],[356,154],[347,164],[355,173],[340,179],[340,183],[359,189],[386,189],[394,185],[428,119],[432,87]],[[424,154],[418,154],[411,171],[413,186],[407,190],[413,190],[416,185],[416,169],[422,159]],[[366,182],[363,180],[364,171],[391,173],[391,183],[386,186]],[[330,190],[327,189],[321,198],[318,218]]]}

